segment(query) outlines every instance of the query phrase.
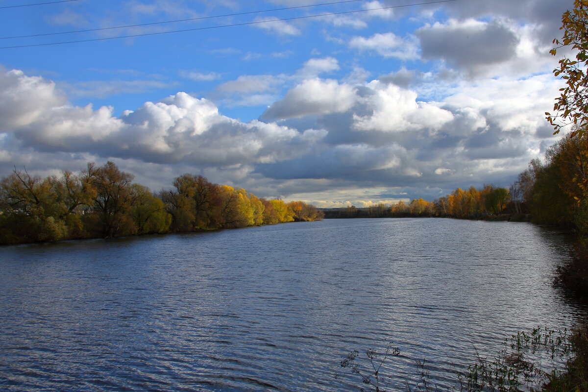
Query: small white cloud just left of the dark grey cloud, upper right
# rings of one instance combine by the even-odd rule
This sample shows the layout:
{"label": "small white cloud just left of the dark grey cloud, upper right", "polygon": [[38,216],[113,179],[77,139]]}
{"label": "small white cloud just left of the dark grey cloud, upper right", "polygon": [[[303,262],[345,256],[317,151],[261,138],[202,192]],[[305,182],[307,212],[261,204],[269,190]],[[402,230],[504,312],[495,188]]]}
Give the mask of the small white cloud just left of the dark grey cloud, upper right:
{"label": "small white cloud just left of the dark grey cloud, upper right", "polygon": [[355,36],[349,41],[349,47],[360,51],[372,51],[383,57],[395,57],[401,60],[419,57],[418,47],[413,38],[400,38],[394,33],[376,33],[369,38]]}

